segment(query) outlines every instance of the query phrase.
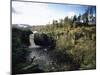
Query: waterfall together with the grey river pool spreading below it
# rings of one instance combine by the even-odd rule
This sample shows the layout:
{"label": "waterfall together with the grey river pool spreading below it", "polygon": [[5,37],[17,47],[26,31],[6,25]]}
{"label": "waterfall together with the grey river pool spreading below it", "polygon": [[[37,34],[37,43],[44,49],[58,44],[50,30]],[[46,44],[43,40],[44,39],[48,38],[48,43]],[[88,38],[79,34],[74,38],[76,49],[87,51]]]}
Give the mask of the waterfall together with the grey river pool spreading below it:
{"label": "waterfall together with the grey river pool spreading below it", "polygon": [[[34,63],[37,63],[39,67],[42,69],[45,67],[45,65],[48,65],[53,61],[53,58],[51,56],[51,51],[48,51],[48,49],[46,48],[35,45],[33,39],[34,35],[31,34],[30,35],[31,45],[29,46],[30,54],[27,57],[27,60],[31,63],[32,61],[34,61]],[[35,57],[34,60],[32,60],[33,57]]]}

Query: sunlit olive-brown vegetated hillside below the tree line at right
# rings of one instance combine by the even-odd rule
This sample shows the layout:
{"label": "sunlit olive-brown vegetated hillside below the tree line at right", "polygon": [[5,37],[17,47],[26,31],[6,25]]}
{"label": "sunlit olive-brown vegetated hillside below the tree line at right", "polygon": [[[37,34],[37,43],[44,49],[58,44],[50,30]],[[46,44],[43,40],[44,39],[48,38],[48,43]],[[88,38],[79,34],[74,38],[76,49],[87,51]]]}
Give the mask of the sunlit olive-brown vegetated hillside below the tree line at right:
{"label": "sunlit olive-brown vegetated hillside below the tree line at right", "polygon": [[[74,65],[74,70],[95,69],[96,26],[82,24],[82,26],[77,25],[76,27],[71,23],[62,26],[59,25],[52,24],[40,27],[40,29],[33,28],[33,31],[37,30],[48,36],[52,36],[56,40],[55,54],[58,54],[58,57],[61,57],[62,60],[67,60],[66,64],[69,62],[71,66]],[[63,64],[62,66],[64,68],[66,65]],[[58,68],[55,69],[57,70]],[[68,70],[68,66],[65,70]],[[71,70],[73,70],[72,67]]]}

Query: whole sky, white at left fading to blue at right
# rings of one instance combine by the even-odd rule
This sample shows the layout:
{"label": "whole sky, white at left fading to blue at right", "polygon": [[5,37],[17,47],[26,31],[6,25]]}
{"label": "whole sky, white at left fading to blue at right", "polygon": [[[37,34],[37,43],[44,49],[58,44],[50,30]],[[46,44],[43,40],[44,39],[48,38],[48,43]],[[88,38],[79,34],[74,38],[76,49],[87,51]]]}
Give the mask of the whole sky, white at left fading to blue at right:
{"label": "whole sky, white at left fading to blue at right", "polygon": [[12,1],[12,24],[46,25],[83,14],[88,6]]}

